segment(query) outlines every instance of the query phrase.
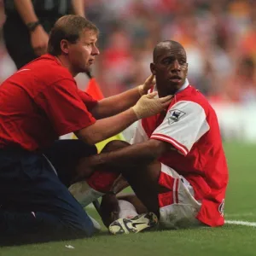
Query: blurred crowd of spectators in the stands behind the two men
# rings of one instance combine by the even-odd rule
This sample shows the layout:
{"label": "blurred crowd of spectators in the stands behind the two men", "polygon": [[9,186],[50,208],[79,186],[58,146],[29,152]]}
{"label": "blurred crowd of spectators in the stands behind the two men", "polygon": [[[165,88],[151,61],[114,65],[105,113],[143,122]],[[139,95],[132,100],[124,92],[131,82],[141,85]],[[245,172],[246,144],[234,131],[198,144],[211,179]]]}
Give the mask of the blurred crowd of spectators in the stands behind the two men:
{"label": "blurred crowd of spectators in the stands behind the two men", "polygon": [[[101,31],[93,73],[105,96],[141,84],[150,74],[154,45],[172,39],[187,50],[189,83],[212,102],[256,102],[255,0],[85,3],[86,17]],[[0,13],[0,27],[3,22]],[[0,35],[0,82],[14,70]]]}

